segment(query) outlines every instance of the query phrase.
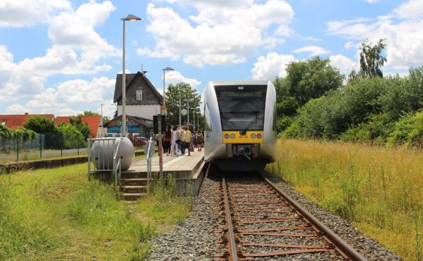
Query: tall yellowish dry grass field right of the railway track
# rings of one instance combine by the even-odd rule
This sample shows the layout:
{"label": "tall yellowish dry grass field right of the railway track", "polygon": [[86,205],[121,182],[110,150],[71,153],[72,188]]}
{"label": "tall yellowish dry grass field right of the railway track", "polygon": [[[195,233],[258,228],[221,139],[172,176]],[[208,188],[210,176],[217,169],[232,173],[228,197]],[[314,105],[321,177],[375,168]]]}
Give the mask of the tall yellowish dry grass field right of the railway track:
{"label": "tall yellowish dry grass field right of the railway track", "polygon": [[405,260],[423,260],[423,152],[279,140],[268,170]]}

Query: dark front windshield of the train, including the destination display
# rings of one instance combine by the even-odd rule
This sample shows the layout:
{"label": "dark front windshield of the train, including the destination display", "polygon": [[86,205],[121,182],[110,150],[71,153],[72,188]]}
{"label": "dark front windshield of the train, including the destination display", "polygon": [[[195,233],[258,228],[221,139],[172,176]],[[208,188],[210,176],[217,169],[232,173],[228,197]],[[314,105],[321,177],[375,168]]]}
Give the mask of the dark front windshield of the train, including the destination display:
{"label": "dark front windshield of the train, including the destination display", "polygon": [[260,131],[264,125],[266,85],[216,86],[222,131]]}

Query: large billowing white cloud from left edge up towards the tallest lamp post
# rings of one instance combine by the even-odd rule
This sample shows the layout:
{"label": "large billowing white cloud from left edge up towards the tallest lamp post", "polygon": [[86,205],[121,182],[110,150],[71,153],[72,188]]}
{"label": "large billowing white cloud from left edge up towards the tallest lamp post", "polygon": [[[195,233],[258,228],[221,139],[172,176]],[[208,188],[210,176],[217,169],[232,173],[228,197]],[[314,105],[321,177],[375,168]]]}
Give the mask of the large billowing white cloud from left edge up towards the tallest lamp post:
{"label": "large billowing white cloud from left edge up towards the tallest lamp post", "polygon": [[94,27],[102,24],[113,10],[110,1],[102,4],[91,1],[50,17],[48,35],[53,44],[44,56],[16,63],[6,46],[0,46],[0,100],[19,100],[43,93],[44,82],[51,75],[109,71],[111,65],[102,59],[121,52],[101,38]]}

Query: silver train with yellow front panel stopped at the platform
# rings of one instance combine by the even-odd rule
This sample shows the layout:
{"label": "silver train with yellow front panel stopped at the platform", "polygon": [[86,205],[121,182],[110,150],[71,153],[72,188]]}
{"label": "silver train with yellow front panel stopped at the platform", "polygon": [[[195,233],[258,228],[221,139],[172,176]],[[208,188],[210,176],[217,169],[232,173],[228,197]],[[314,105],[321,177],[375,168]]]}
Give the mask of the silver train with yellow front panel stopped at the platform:
{"label": "silver train with yellow front panel stopped at the platform", "polygon": [[205,160],[257,171],[275,161],[276,90],[270,81],[209,82],[204,90]]}

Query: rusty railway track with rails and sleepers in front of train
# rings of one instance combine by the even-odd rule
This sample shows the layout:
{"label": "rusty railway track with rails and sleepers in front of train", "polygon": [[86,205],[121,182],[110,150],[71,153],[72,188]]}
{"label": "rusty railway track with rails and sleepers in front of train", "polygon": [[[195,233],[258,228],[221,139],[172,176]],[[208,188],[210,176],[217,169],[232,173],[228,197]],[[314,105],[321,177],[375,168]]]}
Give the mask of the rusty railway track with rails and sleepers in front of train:
{"label": "rusty railway track with rails and sleepers in front of train", "polygon": [[223,177],[219,190],[227,250],[214,260],[366,260],[265,177]]}

